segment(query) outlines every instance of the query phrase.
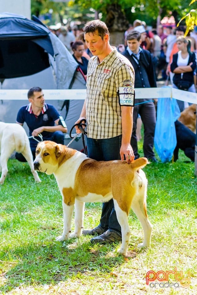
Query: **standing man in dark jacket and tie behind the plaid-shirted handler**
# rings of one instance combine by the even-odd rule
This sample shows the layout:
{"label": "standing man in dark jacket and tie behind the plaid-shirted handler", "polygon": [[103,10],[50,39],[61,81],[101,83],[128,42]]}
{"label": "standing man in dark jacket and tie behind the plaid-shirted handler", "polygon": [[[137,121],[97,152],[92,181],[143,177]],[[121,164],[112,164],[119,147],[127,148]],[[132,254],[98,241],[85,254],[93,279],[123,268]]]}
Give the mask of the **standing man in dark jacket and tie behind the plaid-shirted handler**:
{"label": "standing man in dark jacket and tie behind the plaid-shirted handler", "polygon": [[[135,28],[137,29],[137,27]],[[142,43],[141,34],[137,30],[131,30],[127,34],[127,49],[122,53],[133,65],[135,70],[135,88],[157,87],[155,71],[151,53],[140,48]],[[136,125],[138,116],[141,116],[144,125],[144,156],[151,162],[157,162],[153,151],[154,134],[156,124],[155,105],[152,99],[136,99],[133,111],[133,131],[131,136],[131,146],[135,159],[139,158]]]}

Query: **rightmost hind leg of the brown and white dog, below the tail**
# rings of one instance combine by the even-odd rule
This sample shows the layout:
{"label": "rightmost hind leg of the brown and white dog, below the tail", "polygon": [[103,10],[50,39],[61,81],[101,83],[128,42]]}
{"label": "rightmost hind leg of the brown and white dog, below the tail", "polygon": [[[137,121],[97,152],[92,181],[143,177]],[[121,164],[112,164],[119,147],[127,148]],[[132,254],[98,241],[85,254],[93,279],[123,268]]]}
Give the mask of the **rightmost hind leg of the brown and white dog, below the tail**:
{"label": "rightmost hind leg of the brown and white dog, below the tail", "polygon": [[138,195],[131,202],[131,208],[139,219],[144,231],[144,241],[138,245],[138,248],[150,247],[151,245],[152,225],[148,220],[146,195],[147,187],[143,185],[139,188]]}

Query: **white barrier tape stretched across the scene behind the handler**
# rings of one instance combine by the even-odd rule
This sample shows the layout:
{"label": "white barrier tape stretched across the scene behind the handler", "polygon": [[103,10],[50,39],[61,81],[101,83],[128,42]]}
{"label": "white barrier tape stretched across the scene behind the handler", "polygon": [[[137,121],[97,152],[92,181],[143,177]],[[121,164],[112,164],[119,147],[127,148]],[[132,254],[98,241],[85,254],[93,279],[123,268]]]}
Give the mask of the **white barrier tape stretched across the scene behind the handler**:
{"label": "white barrier tape stretched across the scene behind the handler", "polygon": [[[28,89],[0,89],[0,100],[27,100]],[[46,100],[84,100],[86,89],[45,89]],[[173,97],[197,104],[197,93],[175,89],[169,86],[158,88],[136,88],[135,99]]]}

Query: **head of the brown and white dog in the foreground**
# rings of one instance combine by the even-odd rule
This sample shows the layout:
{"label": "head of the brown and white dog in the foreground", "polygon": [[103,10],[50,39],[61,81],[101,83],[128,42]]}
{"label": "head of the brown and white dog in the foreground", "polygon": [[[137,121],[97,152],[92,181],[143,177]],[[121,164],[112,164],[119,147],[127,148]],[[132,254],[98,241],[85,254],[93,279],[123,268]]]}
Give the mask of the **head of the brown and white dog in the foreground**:
{"label": "head of the brown and white dog in the foreground", "polygon": [[34,170],[53,174],[62,161],[63,147],[53,141],[42,141],[37,145],[36,158],[34,160]]}

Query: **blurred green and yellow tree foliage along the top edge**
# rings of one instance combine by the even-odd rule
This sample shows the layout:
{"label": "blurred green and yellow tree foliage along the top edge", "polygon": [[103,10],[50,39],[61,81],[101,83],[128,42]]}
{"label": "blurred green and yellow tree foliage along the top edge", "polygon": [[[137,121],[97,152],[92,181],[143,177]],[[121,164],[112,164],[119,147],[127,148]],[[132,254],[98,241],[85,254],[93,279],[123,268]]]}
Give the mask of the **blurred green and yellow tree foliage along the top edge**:
{"label": "blurred green and yellow tree foliage along the top edge", "polygon": [[61,22],[63,17],[86,22],[88,19],[94,19],[94,11],[97,11],[101,13],[99,18],[106,21],[106,18],[109,18],[109,7],[118,6],[126,23],[132,23],[139,18],[148,25],[155,26],[158,15],[161,18],[173,15],[176,24],[186,23],[188,32],[194,28],[194,25],[197,25],[197,10],[190,10],[191,5],[196,1],[192,0],[188,5],[185,0],[70,0],[68,2],[31,0],[31,12],[38,17],[40,14],[47,14],[49,9],[52,9],[53,14],[58,15]]}

